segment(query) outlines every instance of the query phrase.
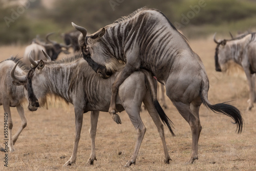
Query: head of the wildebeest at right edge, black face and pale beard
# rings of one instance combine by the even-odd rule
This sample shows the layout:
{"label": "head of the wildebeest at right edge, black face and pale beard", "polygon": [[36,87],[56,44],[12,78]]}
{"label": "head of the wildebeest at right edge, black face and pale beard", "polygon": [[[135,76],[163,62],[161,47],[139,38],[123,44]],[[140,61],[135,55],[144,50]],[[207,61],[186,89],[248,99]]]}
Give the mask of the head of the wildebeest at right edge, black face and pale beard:
{"label": "head of the wildebeest at right edge, black face and pale beard", "polygon": [[[215,70],[221,72],[224,68],[226,63],[228,62],[228,46],[227,40],[216,40],[215,38],[216,33],[214,34],[214,41],[217,44],[217,47],[215,49]],[[225,69],[224,69],[225,70]]]}

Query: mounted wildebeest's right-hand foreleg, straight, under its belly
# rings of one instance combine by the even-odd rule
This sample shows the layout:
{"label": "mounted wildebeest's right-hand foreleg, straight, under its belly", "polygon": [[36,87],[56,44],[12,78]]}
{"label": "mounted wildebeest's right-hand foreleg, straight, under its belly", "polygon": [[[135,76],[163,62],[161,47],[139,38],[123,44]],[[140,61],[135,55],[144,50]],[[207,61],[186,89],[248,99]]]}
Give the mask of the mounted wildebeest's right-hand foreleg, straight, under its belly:
{"label": "mounted wildebeest's right-hand foreleg, straight, under its belly", "polygon": [[95,153],[95,137],[97,131],[97,123],[99,118],[99,111],[92,111],[91,112],[91,125],[90,125],[90,137],[91,137],[91,155],[88,160],[89,164],[93,164],[94,160],[97,160],[96,153]]}

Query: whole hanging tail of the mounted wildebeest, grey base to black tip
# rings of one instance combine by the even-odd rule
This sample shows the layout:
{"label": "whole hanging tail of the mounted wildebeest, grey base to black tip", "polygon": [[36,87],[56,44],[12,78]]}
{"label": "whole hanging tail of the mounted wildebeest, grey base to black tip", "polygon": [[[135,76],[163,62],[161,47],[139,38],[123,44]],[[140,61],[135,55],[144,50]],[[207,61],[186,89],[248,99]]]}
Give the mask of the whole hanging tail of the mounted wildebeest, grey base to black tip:
{"label": "whole hanging tail of the mounted wildebeest, grey base to black tip", "polygon": [[157,100],[157,94],[156,94],[156,91],[155,91],[155,86],[154,86],[154,82],[152,80],[152,75],[150,73],[148,73],[147,71],[141,69],[142,72],[144,73],[144,75],[146,76],[146,79],[147,79],[147,82],[150,86],[150,91],[151,91],[151,94],[153,96],[153,102],[154,102],[154,106],[156,108],[156,111],[160,117],[160,119],[162,120],[162,122],[168,127],[170,133],[175,136],[173,130],[172,130],[172,127],[174,127],[173,125],[173,122],[166,116],[165,112],[163,111],[161,105],[159,104],[158,100]]}

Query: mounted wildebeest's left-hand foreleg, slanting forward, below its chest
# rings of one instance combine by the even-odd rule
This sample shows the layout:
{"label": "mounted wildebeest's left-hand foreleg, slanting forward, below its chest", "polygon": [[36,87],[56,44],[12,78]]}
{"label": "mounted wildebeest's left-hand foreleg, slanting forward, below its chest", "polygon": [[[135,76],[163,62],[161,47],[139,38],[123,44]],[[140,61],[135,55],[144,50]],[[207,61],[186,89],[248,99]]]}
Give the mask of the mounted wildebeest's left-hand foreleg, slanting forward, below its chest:
{"label": "mounted wildebeest's left-hand foreleg, slanting forward, below its chest", "polygon": [[74,143],[74,148],[73,148],[73,153],[71,158],[63,165],[63,166],[68,166],[72,165],[73,163],[76,162],[76,154],[77,154],[77,148],[78,148],[78,143],[80,140],[80,134],[81,134],[81,129],[82,129],[82,118],[83,118],[83,110],[75,108],[75,143]]}

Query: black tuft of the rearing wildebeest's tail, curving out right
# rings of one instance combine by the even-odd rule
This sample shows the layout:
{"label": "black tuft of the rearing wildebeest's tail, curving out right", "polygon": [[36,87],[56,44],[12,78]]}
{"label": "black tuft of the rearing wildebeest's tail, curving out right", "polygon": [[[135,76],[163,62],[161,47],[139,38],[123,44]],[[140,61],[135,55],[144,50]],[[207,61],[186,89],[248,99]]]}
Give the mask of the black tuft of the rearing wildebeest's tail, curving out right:
{"label": "black tuft of the rearing wildebeest's tail, curving out right", "polygon": [[244,120],[242,118],[241,112],[236,107],[228,104],[228,102],[211,105],[203,100],[203,104],[215,113],[224,114],[231,117],[234,120],[234,124],[237,124],[238,134],[242,133]]}

